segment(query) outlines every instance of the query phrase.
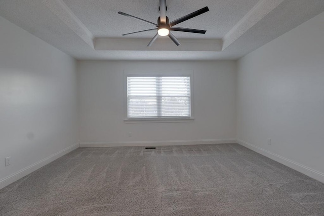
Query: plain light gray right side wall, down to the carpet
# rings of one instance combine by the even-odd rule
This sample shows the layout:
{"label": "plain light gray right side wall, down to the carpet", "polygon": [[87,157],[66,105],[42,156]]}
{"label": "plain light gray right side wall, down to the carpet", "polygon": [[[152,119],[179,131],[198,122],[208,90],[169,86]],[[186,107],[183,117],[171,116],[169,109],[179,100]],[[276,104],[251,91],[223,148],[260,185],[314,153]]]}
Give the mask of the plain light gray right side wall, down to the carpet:
{"label": "plain light gray right side wall, down to the carpet", "polygon": [[324,13],[238,61],[237,139],[324,182],[323,21]]}

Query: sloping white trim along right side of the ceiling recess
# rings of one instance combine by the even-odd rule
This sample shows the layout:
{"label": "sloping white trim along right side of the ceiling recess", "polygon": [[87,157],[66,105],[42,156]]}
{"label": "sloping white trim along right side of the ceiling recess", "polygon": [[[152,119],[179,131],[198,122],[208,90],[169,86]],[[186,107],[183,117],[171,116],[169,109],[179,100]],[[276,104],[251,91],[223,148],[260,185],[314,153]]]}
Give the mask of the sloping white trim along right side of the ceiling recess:
{"label": "sloping white trim along right side of the ceiling recess", "polygon": [[224,37],[223,48],[226,49],[230,44],[246,33],[250,28],[262,20],[273,9],[278,7],[284,0],[260,0],[248,14],[246,14]]}

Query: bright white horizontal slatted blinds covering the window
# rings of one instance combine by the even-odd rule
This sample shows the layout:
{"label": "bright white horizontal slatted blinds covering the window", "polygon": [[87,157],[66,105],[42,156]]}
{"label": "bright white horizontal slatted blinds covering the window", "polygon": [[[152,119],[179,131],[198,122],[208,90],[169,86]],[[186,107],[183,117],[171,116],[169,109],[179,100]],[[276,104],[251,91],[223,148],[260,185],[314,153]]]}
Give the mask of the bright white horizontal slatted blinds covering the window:
{"label": "bright white horizontal slatted blinds covering the window", "polygon": [[189,118],[190,76],[128,76],[128,118]]}

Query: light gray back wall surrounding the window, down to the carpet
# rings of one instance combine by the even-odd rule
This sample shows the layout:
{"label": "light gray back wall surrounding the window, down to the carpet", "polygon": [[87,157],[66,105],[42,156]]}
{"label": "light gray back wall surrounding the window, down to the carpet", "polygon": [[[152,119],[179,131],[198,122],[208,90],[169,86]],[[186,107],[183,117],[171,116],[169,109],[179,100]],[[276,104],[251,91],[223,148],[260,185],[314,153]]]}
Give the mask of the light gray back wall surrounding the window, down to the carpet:
{"label": "light gray back wall surrounding the window, down to the carpet", "polygon": [[[194,121],[125,123],[125,69],[193,69]],[[206,140],[224,142],[220,139],[235,141],[234,61],[79,61],[77,71],[81,143],[91,146],[98,142],[137,145],[136,142],[142,141],[160,141],[163,144],[178,144],[178,141],[186,141],[186,144],[204,143]],[[132,137],[128,137],[129,133],[132,133]]]}

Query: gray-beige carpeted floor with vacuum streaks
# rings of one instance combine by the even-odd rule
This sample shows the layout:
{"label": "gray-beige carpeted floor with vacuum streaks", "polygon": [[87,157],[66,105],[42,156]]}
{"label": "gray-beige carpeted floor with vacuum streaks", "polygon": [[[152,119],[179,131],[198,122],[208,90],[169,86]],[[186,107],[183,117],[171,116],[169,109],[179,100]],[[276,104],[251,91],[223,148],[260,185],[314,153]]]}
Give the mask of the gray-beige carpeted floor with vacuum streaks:
{"label": "gray-beige carpeted floor with vacuum streaks", "polygon": [[1,215],[324,215],[324,184],[238,144],[78,148],[0,190]]}

